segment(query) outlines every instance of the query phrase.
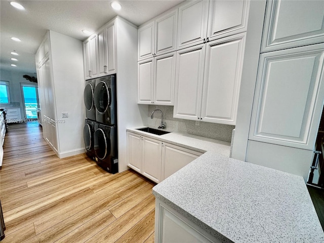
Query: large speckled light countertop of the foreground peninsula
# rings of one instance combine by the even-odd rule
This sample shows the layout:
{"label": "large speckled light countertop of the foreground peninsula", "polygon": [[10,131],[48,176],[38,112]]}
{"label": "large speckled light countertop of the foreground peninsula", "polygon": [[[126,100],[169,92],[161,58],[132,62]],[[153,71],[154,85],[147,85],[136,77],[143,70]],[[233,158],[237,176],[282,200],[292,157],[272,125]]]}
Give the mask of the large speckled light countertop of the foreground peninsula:
{"label": "large speckled light countertop of the foreground peninsula", "polygon": [[212,151],[153,194],[222,242],[324,242],[302,177]]}

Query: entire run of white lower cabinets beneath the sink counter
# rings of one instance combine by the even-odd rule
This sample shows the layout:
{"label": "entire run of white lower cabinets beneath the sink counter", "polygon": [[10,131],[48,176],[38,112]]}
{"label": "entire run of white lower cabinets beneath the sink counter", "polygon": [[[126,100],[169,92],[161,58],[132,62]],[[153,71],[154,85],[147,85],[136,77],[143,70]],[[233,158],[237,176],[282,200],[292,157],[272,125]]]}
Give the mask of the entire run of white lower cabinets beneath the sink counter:
{"label": "entire run of white lower cabinets beneath the sink counter", "polygon": [[127,165],[159,183],[199,157],[201,152],[127,132]]}

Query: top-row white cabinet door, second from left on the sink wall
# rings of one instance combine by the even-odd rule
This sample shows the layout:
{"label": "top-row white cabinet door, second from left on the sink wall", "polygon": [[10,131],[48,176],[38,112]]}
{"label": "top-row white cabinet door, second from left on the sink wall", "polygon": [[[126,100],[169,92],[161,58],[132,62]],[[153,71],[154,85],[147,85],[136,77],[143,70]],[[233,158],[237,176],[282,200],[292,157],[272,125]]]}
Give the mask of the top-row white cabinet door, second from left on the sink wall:
{"label": "top-row white cabinet door, second from left on the sink wall", "polygon": [[176,51],[178,10],[169,12],[155,20],[154,54]]}

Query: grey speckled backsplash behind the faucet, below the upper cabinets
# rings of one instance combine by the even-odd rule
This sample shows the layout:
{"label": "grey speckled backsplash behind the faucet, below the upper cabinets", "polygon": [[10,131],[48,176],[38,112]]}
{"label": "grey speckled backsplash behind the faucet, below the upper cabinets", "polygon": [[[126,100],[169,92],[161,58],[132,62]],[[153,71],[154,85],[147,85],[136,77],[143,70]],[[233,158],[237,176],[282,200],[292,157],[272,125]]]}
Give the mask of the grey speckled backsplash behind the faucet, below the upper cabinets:
{"label": "grey speckled backsplash behind the faucet, below the upper cabinets", "polygon": [[157,128],[161,124],[160,112],[155,112],[153,119],[151,119],[151,113],[154,109],[156,109],[156,107],[163,112],[166,130],[168,131],[187,133],[201,137],[231,142],[232,130],[235,128],[235,126],[206,123],[204,121],[199,121],[199,125],[195,125],[196,122],[194,120],[174,118],[173,106],[149,105],[147,117],[148,127]]}

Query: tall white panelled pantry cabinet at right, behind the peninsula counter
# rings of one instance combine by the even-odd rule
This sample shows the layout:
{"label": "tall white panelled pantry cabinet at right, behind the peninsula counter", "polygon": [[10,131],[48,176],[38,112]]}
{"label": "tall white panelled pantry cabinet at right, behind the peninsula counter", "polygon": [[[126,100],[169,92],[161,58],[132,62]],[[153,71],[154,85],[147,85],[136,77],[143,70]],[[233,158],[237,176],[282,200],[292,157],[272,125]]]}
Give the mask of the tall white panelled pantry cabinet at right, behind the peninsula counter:
{"label": "tall white panelled pantry cabinet at right, behind the peninsula counter", "polygon": [[234,158],[307,180],[324,104],[323,10],[323,1],[267,1],[255,92],[241,93],[253,108],[239,107]]}

